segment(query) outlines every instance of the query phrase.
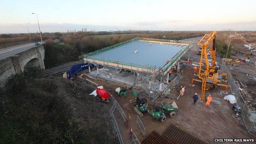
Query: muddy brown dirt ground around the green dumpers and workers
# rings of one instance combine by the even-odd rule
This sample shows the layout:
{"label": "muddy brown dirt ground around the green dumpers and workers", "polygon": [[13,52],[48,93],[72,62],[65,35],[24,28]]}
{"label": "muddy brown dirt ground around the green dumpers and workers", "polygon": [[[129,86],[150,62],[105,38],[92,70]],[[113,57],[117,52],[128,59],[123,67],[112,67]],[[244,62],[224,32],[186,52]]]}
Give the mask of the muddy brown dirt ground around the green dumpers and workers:
{"label": "muddy brown dirt ground around the green dumpers and workers", "polygon": [[[201,84],[196,82],[195,87],[190,87],[191,78],[196,78],[196,76],[193,75],[191,67],[183,68],[182,71],[184,78],[180,80],[179,86],[186,86],[184,96],[176,100],[178,92],[171,91],[169,97],[169,99],[175,99],[178,105],[176,116],[174,118],[167,116],[167,120],[162,123],[153,119],[147,112],[144,112],[144,117],[142,117],[141,120],[146,128],[146,134],[151,133],[153,130],[162,134],[170,124],[174,124],[181,130],[207,143],[213,143],[215,138],[250,138],[244,126],[242,126],[242,121],[235,120],[231,117],[233,114],[231,109],[232,104],[217,95],[218,90],[223,90],[224,88],[217,87],[216,89],[206,91],[206,95],[211,94],[213,96],[210,107],[206,107],[205,103],[200,100],[194,105],[192,96],[194,93],[198,93],[200,96]],[[131,90],[128,90],[128,96],[121,98],[114,94],[114,89],[116,89],[117,86],[105,80],[97,80],[96,82],[99,85],[103,85],[106,89],[110,89],[125,114],[130,114],[132,128],[139,140],[142,141],[144,137],[142,137],[142,132],[136,124],[137,114],[133,110],[135,103],[129,103]],[[163,98],[159,98],[158,100],[161,101],[162,99]],[[148,101],[149,107],[152,108],[153,101]],[[109,106],[112,106],[112,104]],[[119,123],[123,141],[130,143],[129,130],[122,124],[121,115],[116,112],[115,117]]]}

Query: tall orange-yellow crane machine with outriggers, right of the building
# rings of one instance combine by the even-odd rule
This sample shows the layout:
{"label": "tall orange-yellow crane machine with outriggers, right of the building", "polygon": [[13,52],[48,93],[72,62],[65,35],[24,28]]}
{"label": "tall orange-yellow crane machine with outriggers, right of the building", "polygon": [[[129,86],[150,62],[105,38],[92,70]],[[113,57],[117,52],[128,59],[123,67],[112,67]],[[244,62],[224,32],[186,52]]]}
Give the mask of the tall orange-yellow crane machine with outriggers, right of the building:
{"label": "tall orange-yellow crane machine with outriggers, right of the building", "polygon": [[[228,85],[221,84],[221,79],[219,79],[219,66],[215,63],[215,38],[216,38],[216,31],[213,31],[210,34],[205,34],[203,38],[197,43],[202,49],[201,49],[201,58],[200,58],[200,66],[198,71],[198,77],[201,80],[192,78],[193,85],[194,81],[202,82],[202,91],[201,91],[201,100],[205,101],[205,90],[208,90],[212,87],[217,87],[217,85],[220,85],[222,87],[225,87],[228,89]],[[211,66],[209,66],[208,62],[208,56],[207,56],[207,47],[210,44],[210,53],[211,53]],[[203,58],[205,59],[206,67],[205,70],[202,70],[202,64],[203,64]],[[222,73],[222,76],[226,79],[227,74]]]}

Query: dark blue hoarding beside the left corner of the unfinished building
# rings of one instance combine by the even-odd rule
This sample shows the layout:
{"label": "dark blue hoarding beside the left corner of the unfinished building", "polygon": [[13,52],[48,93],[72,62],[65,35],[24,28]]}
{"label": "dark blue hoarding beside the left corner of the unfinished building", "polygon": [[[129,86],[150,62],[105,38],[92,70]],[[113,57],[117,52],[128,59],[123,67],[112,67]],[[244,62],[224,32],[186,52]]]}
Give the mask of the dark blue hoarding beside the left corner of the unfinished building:
{"label": "dark blue hoarding beside the left corner of the unfinished building", "polygon": [[[91,64],[91,69],[94,68],[94,65]],[[88,63],[82,63],[82,64],[76,64],[71,66],[71,68],[66,71],[67,73],[67,78],[70,79],[73,75],[77,75],[81,71],[89,69]]]}

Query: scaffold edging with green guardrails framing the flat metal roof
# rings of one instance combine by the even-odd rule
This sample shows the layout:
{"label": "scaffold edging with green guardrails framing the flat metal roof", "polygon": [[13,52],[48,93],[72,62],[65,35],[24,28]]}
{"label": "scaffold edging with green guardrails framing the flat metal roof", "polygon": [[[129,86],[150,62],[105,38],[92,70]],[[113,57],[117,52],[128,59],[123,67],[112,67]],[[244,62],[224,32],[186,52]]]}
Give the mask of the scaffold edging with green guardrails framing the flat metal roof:
{"label": "scaffold edging with green guardrails framing the flat metal roof", "polygon": [[[101,57],[95,57],[95,55],[98,53],[102,53],[104,51],[107,51],[107,50],[110,50],[113,48],[117,48],[118,46],[122,46],[127,43],[131,43],[133,41],[148,41],[148,42],[155,42],[155,43],[183,45],[183,46],[185,46],[185,48],[183,48],[176,56],[174,56],[170,62],[168,62],[164,66],[160,67],[159,70],[156,69],[155,66],[150,66],[150,65],[146,65],[146,64],[139,64],[139,63],[125,62],[125,61],[116,60],[116,59],[106,59],[106,58],[101,58]],[[134,39],[130,39],[128,41],[117,43],[112,46],[108,46],[106,48],[102,48],[100,50],[96,50],[96,51],[88,53],[86,55],[82,55],[79,58],[84,58],[84,60],[87,62],[101,64],[101,65],[105,65],[105,66],[117,67],[117,68],[121,68],[121,69],[127,69],[127,70],[131,70],[131,71],[151,73],[151,74],[159,71],[161,75],[165,75],[166,73],[168,73],[169,69],[171,69],[171,67],[174,66],[178,62],[178,60],[187,52],[187,50],[189,50],[192,47],[193,47],[193,44],[190,41],[176,41],[176,40],[167,40],[167,39],[150,39],[150,38],[137,37]]]}

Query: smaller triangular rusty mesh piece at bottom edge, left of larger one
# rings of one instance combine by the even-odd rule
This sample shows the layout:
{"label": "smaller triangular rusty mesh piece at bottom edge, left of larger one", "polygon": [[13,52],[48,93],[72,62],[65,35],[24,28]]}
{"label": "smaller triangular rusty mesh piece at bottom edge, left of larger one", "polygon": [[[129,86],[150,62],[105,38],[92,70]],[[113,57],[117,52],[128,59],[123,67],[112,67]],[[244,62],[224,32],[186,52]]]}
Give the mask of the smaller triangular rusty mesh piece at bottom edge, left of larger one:
{"label": "smaller triangular rusty mesh piece at bottom edge, left of larger one", "polygon": [[153,131],[150,135],[148,135],[142,142],[142,144],[173,144],[165,137],[159,135],[155,131]]}

